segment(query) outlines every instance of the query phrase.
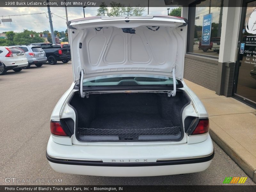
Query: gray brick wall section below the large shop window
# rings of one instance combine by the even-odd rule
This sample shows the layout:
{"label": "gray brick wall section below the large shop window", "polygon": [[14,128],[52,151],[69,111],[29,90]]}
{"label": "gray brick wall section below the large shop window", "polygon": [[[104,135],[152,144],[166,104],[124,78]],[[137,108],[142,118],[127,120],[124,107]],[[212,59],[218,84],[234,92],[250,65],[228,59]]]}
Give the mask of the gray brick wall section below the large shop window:
{"label": "gray brick wall section below the large shop window", "polygon": [[185,54],[184,78],[216,92],[218,59]]}

